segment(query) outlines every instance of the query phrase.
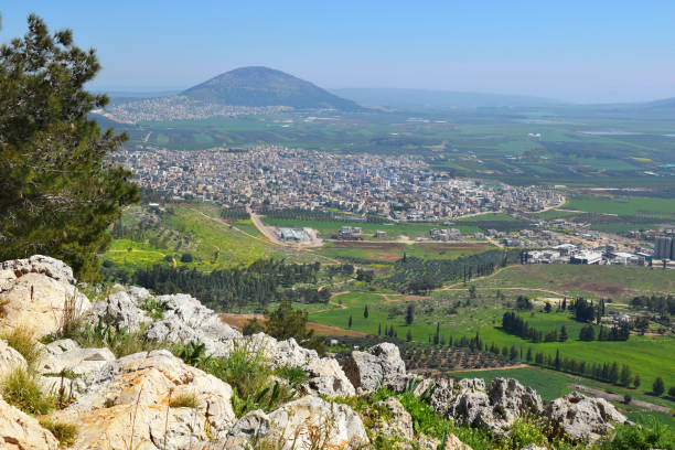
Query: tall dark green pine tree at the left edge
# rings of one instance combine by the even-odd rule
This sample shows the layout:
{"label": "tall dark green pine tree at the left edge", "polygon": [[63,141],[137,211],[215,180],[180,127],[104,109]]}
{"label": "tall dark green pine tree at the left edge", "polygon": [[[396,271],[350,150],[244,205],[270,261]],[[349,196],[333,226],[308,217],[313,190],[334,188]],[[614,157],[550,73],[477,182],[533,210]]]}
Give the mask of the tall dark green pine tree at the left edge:
{"label": "tall dark green pine tree at the left edge", "polygon": [[100,69],[95,51],[35,14],[28,22],[0,49],[0,260],[49,255],[95,280],[108,227],[139,200],[131,173],[106,162],[127,136],[88,117],[108,103],[85,90]]}

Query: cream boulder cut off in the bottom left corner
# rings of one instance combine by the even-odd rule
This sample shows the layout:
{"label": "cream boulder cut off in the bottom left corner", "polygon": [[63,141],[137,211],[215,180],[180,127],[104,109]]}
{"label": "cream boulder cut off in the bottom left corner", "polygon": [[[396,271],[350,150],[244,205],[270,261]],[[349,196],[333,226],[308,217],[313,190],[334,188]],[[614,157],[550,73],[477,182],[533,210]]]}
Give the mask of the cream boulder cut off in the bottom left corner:
{"label": "cream boulder cut off in the bottom left corner", "polygon": [[8,405],[0,396],[0,449],[57,450],[58,441],[38,419]]}

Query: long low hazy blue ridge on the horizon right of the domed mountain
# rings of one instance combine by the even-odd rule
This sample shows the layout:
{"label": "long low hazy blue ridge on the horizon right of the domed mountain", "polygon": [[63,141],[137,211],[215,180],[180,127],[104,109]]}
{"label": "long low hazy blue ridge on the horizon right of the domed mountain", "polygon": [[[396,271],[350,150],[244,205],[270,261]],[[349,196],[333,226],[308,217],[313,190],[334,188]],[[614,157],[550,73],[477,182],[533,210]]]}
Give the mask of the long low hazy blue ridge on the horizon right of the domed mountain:
{"label": "long low hazy blue ridge on the horizon right of the domed mountain", "polygon": [[459,93],[433,89],[344,88],[332,89],[332,92],[363,105],[377,105],[396,109],[443,110],[453,108],[565,105],[565,103],[559,100],[525,95]]}

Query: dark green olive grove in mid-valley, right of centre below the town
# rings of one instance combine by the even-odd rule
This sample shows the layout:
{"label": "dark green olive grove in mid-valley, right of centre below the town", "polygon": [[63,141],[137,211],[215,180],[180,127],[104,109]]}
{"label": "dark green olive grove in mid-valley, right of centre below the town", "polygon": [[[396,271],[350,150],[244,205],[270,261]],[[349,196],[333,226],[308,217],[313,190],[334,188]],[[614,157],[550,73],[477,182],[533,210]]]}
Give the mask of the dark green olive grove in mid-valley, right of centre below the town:
{"label": "dark green olive grove in mid-valley, right of centre below the town", "polygon": [[496,267],[521,260],[518,249],[494,249],[457,259],[422,259],[405,257],[394,265],[394,274],[386,283],[403,292],[424,293],[449,281],[471,281],[490,275]]}

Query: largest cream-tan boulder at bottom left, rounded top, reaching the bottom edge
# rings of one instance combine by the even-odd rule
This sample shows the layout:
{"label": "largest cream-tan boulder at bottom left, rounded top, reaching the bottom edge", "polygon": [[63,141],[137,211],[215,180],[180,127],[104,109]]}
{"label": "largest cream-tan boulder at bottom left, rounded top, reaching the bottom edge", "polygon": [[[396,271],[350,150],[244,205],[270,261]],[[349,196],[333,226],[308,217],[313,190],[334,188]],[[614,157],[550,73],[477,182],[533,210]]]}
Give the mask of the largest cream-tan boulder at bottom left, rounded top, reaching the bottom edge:
{"label": "largest cream-tan boulder at bottom left, rounded top, reaching the bottom edge", "polygon": [[[189,396],[196,407],[173,405]],[[76,401],[58,413],[77,422],[74,449],[185,449],[222,446],[235,422],[232,388],[168,351],[107,363]]]}

